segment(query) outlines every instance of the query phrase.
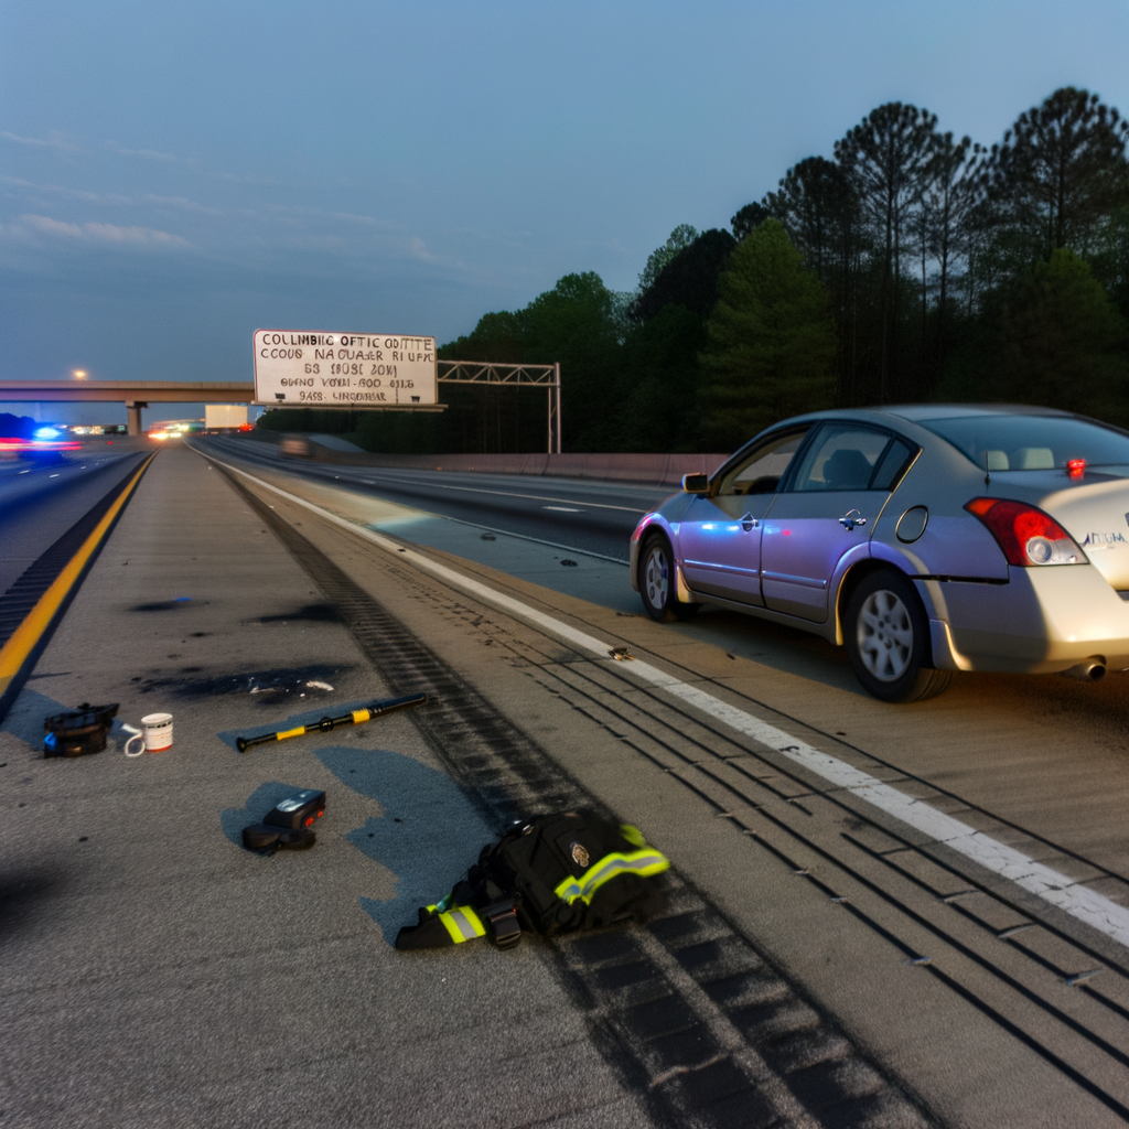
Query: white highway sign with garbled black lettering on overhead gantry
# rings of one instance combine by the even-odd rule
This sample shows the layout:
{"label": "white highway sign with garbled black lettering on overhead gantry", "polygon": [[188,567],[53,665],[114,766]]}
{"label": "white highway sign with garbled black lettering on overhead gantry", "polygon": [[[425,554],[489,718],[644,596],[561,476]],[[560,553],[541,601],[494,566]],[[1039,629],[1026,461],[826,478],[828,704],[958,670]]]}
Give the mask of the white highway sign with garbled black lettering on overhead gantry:
{"label": "white highway sign with garbled black lettering on overhead gantry", "polygon": [[255,402],[279,408],[414,408],[439,400],[435,338],[255,331]]}

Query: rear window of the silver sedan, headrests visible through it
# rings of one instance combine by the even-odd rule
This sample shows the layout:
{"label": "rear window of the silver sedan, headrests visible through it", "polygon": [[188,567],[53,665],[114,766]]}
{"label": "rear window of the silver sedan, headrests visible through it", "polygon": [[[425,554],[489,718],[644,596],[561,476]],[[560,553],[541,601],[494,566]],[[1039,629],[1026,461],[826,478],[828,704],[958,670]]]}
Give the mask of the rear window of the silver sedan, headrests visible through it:
{"label": "rear window of the silver sedan, headrests visible through it", "polygon": [[957,415],[919,422],[989,471],[1052,471],[1075,458],[1084,458],[1086,466],[1129,469],[1129,435],[1067,415]]}

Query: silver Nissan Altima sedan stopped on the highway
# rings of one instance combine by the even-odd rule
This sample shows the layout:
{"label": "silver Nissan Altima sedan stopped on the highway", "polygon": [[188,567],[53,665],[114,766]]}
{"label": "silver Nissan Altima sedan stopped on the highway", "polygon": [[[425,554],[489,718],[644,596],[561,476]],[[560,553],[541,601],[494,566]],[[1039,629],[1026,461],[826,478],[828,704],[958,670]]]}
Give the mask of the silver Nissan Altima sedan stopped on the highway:
{"label": "silver Nissan Altima sedan stopped on the highway", "polygon": [[846,646],[884,701],[953,671],[1129,667],[1129,432],[1050,409],[815,412],[647,514],[651,619],[703,603]]}

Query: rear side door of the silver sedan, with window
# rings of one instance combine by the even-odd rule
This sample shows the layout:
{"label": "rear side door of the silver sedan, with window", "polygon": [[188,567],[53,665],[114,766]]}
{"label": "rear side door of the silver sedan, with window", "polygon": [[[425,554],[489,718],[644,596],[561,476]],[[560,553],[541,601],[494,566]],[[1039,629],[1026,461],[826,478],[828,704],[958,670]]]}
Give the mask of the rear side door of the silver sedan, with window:
{"label": "rear side door of the silver sedan, with window", "polygon": [[822,425],[787,489],[777,495],[761,539],[764,605],[822,623],[835,567],[868,542],[910,448],[881,428]]}

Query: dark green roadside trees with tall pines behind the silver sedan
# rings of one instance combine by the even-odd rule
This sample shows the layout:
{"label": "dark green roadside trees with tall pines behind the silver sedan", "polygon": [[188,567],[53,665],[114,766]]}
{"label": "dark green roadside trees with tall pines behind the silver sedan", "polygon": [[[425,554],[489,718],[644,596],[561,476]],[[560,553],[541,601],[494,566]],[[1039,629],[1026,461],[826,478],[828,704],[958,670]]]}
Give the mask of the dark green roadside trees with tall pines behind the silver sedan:
{"label": "dark green roadside trees with tall pines behind the silver sedan", "polygon": [[[878,106],[728,229],[676,227],[633,292],[568,274],[439,356],[559,360],[567,450],[728,450],[787,414],[926,400],[1129,426],[1127,142],[1129,122],[1073,87],[990,147]],[[543,392],[443,399],[352,429],[369,449],[544,447]]]}

